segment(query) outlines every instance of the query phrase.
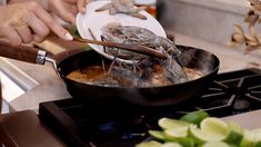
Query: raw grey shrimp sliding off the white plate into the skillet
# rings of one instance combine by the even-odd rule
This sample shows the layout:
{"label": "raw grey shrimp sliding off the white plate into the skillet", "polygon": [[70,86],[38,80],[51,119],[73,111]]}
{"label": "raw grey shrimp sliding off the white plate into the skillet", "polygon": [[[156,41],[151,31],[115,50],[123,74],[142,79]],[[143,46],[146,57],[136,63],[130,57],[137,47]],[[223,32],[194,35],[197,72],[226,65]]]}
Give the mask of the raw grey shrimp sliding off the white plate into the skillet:
{"label": "raw grey shrimp sliding off the white plate into the skillet", "polygon": [[[164,67],[164,70],[167,70],[165,72],[169,75],[168,77],[173,80],[173,82],[188,80],[188,76],[175,60],[181,52],[171,40],[159,37],[145,28],[121,26],[120,23],[108,23],[101,29],[101,38],[104,41],[139,43],[164,53],[168,59],[158,61],[162,67]],[[119,50],[117,48],[106,48],[104,51],[113,57],[127,60],[143,60],[143,62],[151,62],[151,60],[149,60],[149,58],[145,59],[143,55],[140,56],[131,51]]]}

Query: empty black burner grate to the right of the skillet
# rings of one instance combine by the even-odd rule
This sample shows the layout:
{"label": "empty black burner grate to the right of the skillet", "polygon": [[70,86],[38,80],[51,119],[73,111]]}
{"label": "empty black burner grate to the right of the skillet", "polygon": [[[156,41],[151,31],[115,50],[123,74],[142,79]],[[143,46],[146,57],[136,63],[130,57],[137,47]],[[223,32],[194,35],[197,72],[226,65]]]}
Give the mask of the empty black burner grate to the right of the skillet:
{"label": "empty black burner grate to the right of the skillet", "polygon": [[[231,76],[233,74],[235,76]],[[228,78],[229,76],[231,77]],[[203,95],[193,102],[194,110],[205,110],[214,116],[223,116],[223,110],[229,111],[227,114],[235,115],[259,109],[261,106],[261,75],[254,70],[219,75]]]}

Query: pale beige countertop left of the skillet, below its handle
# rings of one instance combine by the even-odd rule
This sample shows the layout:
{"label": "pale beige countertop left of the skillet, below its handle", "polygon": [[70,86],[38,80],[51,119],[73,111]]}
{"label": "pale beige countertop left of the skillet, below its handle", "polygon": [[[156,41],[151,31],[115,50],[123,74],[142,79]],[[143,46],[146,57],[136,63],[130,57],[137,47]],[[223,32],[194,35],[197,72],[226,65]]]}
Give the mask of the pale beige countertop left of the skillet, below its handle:
{"label": "pale beige countertop left of the skillet, below its handle", "polygon": [[44,65],[36,65],[12,59],[7,60],[38,82],[37,86],[26,90],[23,95],[8,102],[11,109],[10,111],[26,109],[38,111],[40,102],[71,97],[53,69],[53,63],[46,62]]}

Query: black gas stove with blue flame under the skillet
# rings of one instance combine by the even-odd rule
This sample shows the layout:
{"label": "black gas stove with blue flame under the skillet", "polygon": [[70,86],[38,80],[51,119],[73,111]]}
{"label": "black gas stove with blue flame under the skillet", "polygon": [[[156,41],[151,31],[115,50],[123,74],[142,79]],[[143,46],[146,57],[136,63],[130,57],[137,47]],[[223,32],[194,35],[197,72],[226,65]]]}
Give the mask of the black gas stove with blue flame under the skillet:
{"label": "black gas stove with blue flame under the skillet", "polygon": [[202,96],[167,107],[140,107],[124,101],[82,104],[69,98],[40,104],[40,119],[69,146],[133,147],[158,129],[158,119],[205,110],[224,117],[261,109],[261,70],[220,74]]}

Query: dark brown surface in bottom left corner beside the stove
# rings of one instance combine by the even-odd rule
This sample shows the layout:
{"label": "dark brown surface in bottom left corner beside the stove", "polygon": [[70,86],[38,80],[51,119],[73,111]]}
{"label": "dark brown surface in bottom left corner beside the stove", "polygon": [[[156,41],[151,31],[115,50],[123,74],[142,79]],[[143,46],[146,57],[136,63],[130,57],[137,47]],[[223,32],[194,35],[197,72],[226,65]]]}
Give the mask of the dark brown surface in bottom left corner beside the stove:
{"label": "dark brown surface in bottom left corner beside the stove", "polygon": [[66,147],[32,110],[0,117],[0,141],[7,147]]}

